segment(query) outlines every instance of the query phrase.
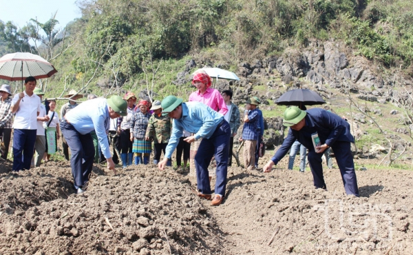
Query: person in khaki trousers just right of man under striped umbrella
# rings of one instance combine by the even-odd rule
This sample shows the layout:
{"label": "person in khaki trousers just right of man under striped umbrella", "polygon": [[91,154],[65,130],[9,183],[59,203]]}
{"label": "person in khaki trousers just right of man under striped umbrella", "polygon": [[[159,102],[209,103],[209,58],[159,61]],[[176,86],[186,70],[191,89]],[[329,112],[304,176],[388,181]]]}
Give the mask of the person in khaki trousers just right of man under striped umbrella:
{"label": "person in khaki trousers just right of man under striped umbrella", "polygon": [[[35,88],[33,93],[39,96],[40,101],[45,94],[40,88]],[[50,117],[46,114],[45,105],[42,103],[40,104],[40,112],[39,116],[37,116],[37,132],[36,132],[36,142],[34,143],[34,150],[36,151],[36,155],[34,156],[34,165],[39,167],[41,164],[41,159],[46,152],[46,136],[45,136],[45,128],[43,128],[43,122],[50,121]]]}

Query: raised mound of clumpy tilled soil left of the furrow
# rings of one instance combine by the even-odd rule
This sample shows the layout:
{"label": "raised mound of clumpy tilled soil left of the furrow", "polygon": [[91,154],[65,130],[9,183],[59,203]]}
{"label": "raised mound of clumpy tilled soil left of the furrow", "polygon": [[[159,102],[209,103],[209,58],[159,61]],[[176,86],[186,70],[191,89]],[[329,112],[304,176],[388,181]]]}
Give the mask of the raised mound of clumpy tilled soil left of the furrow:
{"label": "raised mound of clumpy tilled soil left of the furrow", "polygon": [[[94,167],[87,192],[76,195],[57,173],[71,176],[68,164],[2,176],[2,187],[10,186],[2,195],[16,194],[12,205],[23,210],[0,215],[1,254],[169,254],[170,249],[210,254],[222,249],[213,217],[178,174],[134,167],[113,176]],[[68,196],[52,196],[59,185]]]}

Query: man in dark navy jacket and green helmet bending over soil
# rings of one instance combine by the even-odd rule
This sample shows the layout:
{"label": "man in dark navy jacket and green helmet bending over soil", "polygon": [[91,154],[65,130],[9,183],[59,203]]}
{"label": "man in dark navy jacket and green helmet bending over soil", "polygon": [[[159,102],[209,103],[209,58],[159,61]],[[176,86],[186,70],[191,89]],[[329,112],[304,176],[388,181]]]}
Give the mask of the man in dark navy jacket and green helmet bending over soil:
{"label": "man in dark navy jacket and green helmet bending over soil", "polygon": [[[313,173],[316,188],[326,189],[324,182],[321,156],[324,150],[332,147],[339,166],[344,190],[347,194],[359,196],[354,162],[350,150],[350,143],[354,142],[350,134],[350,125],[337,114],[326,110],[313,108],[307,111],[291,106],[284,112],[283,125],[290,127],[288,136],[275,155],[264,166],[264,172],[271,172],[271,167],[286,155],[291,145],[297,139],[308,148],[308,163]],[[313,145],[311,136],[317,133],[321,145]]]}

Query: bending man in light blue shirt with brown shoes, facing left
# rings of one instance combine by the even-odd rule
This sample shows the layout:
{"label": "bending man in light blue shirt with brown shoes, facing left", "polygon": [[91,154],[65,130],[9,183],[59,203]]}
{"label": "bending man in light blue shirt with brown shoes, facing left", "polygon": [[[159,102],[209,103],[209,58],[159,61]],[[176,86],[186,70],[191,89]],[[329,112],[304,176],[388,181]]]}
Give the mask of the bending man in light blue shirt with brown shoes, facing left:
{"label": "bending man in light blue shirt with brown shoes, facing left", "polygon": [[173,119],[173,128],[165,152],[165,159],[158,163],[158,167],[160,170],[165,168],[184,130],[194,133],[193,136],[188,136],[184,141],[192,143],[202,138],[195,156],[198,196],[207,200],[212,198],[208,166],[215,155],[217,181],[211,205],[220,205],[225,196],[231,128],[229,123],[224,120],[224,116],[209,106],[195,101],[188,103],[182,103],[182,101],[176,96],[167,96],[162,100],[162,114],[168,114]]}

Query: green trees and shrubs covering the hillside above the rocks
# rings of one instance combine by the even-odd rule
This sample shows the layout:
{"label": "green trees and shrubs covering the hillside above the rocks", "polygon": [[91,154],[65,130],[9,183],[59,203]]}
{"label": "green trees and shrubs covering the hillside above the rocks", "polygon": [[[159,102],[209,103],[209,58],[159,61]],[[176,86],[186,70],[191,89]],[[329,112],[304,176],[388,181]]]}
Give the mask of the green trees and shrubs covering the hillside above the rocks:
{"label": "green trees and shrubs covering the hillside above the rocks", "polygon": [[[150,72],[149,59],[155,66],[163,59],[156,76],[163,88],[179,71],[176,61],[187,54],[212,52],[211,65],[221,63],[231,70],[240,61],[304,48],[315,39],[343,41],[352,54],[385,68],[412,72],[413,2],[409,0],[96,0],[78,4],[81,19],[67,27],[65,43],[52,45],[55,56],[73,43],[51,61],[59,70],[53,79],[55,88],[63,84],[81,88],[92,77],[95,84],[105,80],[107,85],[131,88],[145,79],[145,68]],[[30,47],[28,41],[39,41],[39,23],[47,37],[56,39],[52,33],[56,20],[59,16],[45,23],[31,21],[20,30],[1,22],[1,54],[37,50],[45,56],[44,47]]]}

